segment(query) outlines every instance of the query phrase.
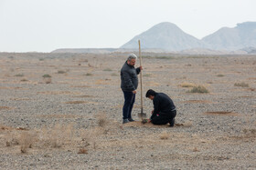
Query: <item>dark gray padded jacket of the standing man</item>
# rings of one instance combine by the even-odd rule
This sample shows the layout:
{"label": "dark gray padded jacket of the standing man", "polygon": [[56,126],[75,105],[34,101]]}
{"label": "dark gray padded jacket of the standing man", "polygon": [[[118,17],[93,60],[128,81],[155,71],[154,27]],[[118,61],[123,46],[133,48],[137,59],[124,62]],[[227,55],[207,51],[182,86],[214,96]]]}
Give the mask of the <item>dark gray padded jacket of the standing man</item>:
{"label": "dark gray padded jacket of the standing man", "polygon": [[124,63],[121,69],[121,88],[123,91],[133,91],[138,87],[138,74],[141,72],[140,67],[134,68],[132,65],[128,65],[127,61]]}

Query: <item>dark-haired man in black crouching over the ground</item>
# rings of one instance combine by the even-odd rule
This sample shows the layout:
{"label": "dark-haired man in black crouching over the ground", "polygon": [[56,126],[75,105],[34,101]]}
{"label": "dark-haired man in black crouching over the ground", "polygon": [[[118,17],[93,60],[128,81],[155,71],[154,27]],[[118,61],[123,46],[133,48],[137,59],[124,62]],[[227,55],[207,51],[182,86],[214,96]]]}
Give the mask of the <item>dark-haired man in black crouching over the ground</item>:
{"label": "dark-haired man in black crouching over the ground", "polygon": [[149,89],[145,95],[147,98],[153,100],[154,110],[150,117],[150,122],[154,125],[175,125],[176,106],[173,100],[164,93],[156,93]]}

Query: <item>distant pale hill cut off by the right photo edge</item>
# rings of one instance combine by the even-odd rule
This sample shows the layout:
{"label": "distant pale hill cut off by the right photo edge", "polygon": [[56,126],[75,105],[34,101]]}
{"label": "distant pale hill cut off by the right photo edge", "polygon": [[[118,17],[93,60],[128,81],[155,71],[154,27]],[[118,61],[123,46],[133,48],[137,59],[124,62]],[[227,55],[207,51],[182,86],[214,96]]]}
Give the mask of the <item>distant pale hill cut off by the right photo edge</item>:
{"label": "distant pale hill cut off by the right photo edge", "polygon": [[234,28],[223,27],[212,35],[202,39],[215,50],[238,50],[245,47],[256,47],[256,22],[238,24]]}

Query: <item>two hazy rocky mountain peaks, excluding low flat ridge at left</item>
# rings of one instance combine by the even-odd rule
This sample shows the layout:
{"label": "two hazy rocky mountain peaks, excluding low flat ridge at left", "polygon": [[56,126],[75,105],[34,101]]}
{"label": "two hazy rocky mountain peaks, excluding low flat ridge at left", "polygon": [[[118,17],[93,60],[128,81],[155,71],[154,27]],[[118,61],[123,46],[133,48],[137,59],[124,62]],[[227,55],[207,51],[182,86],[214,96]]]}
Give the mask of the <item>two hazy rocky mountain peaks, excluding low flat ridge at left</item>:
{"label": "two hazy rocky mountain peaks, excluding low flat ridge at left", "polygon": [[121,48],[137,48],[139,39],[143,42],[142,48],[144,49],[160,48],[166,51],[182,51],[195,48],[234,51],[249,46],[256,47],[256,22],[241,23],[234,28],[223,27],[202,40],[188,35],[172,23],[160,23],[141,35],[136,35]]}

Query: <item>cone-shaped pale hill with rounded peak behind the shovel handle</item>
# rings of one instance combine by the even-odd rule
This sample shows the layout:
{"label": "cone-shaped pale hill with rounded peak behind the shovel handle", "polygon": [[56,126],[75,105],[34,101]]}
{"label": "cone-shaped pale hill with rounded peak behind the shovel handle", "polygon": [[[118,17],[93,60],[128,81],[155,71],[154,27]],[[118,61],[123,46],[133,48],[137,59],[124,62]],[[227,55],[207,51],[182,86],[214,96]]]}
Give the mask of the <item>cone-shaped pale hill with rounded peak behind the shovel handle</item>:
{"label": "cone-shaped pale hill with rounded peak behind the shovel handle", "polygon": [[160,48],[166,51],[180,51],[189,48],[204,48],[206,44],[192,35],[183,32],[172,23],[160,23],[145,31],[141,35],[136,35],[121,48],[137,48],[138,40],[141,40],[142,48]]}

